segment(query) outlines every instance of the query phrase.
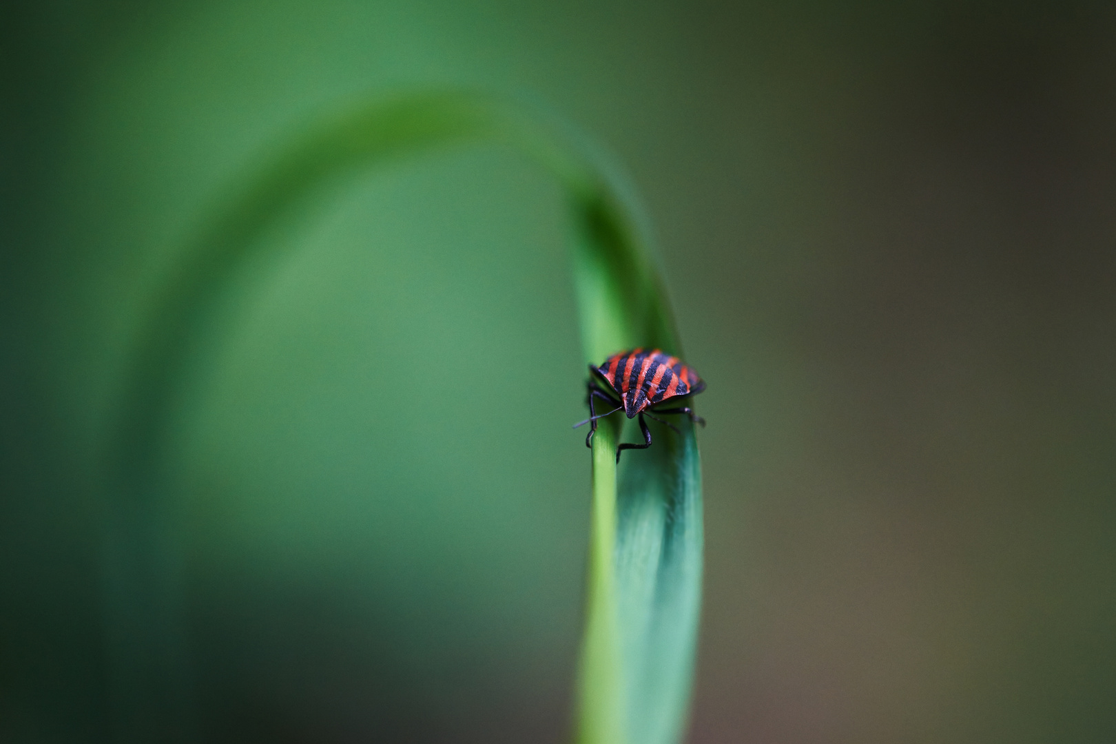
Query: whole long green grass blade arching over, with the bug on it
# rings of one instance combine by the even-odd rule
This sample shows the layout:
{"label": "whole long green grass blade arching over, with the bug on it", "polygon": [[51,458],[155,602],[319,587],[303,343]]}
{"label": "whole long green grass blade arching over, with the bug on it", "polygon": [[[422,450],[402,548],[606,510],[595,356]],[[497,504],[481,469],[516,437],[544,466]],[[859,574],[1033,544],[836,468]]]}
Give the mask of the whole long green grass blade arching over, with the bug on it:
{"label": "whole long green grass blade arching over, with the bug on it", "polygon": [[[260,233],[324,182],[402,156],[504,143],[562,185],[574,225],[575,284],[587,363],[637,346],[681,348],[666,294],[637,223],[584,147],[522,110],[473,94],[432,94],[327,120],[287,147],[227,202],[160,296],[137,339],[113,441],[106,526],[107,645],[117,738],[183,729],[189,683],[167,682],[181,658],[181,577],[153,487],[172,393],[192,344]],[[620,416],[603,419],[593,450],[593,534],[577,716],[581,744],[681,738],[701,596],[701,474],[693,426],[652,424],[655,444],[617,466]]]}

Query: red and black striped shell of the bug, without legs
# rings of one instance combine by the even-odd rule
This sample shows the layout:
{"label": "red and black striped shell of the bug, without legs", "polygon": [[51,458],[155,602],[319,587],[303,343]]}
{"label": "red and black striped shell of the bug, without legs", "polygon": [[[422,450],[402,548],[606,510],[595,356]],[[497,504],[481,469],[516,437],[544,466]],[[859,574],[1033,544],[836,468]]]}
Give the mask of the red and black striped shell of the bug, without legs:
{"label": "red and black striped shell of the bug, without legs", "polygon": [[614,354],[597,367],[624,403],[628,418],[667,398],[701,393],[705,383],[677,357],[658,349],[633,349]]}

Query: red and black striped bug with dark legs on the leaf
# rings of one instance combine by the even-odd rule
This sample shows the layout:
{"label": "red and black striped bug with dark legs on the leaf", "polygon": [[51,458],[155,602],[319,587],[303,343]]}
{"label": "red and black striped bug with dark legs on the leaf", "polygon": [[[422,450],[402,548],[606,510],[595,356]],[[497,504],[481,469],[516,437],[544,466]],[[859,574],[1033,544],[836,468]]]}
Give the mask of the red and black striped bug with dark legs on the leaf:
{"label": "red and black striped bug with dark legs on the leaf", "polygon": [[[602,381],[606,385],[602,385]],[[625,450],[646,450],[651,446],[651,431],[647,428],[647,422],[643,419],[645,415],[666,424],[675,432],[679,431],[676,426],[654,414],[685,414],[690,421],[705,425],[705,419],[694,414],[687,406],[652,408],[665,400],[698,395],[705,389],[705,383],[698,377],[693,368],[682,364],[677,357],[663,354],[658,349],[622,351],[605,359],[605,364],[599,367],[589,365],[587,388],[589,417],[574,424],[574,428],[585,424],[590,425],[589,434],[585,437],[585,446],[593,448],[593,435],[597,431],[598,418],[604,418],[622,408],[628,418],[639,417],[639,431],[643,432],[644,443],[622,444],[616,447],[616,462],[620,461],[620,453]],[[597,415],[593,405],[594,398],[600,398],[615,407],[606,414]]]}

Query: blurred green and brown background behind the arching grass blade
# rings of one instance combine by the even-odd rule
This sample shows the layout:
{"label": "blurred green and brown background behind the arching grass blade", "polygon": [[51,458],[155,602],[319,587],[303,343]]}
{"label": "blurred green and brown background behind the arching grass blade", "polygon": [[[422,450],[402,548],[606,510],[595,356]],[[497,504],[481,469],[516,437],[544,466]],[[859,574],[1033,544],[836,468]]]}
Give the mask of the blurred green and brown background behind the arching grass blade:
{"label": "blurred green and brown background behind the arching grass blade", "polygon": [[[0,741],[109,731],[99,457],[182,247],[307,120],[470,86],[610,151],[699,400],[693,743],[1116,741],[1108,3],[7,2]],[[175,400],[208,742],[561,742],[588,529],[557,187],[267,236]]]}

